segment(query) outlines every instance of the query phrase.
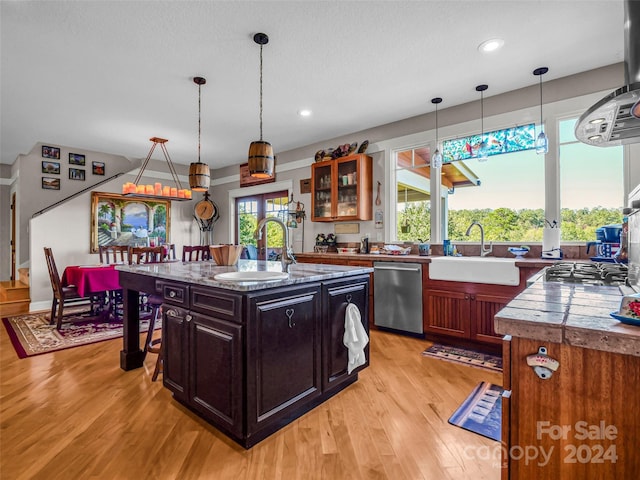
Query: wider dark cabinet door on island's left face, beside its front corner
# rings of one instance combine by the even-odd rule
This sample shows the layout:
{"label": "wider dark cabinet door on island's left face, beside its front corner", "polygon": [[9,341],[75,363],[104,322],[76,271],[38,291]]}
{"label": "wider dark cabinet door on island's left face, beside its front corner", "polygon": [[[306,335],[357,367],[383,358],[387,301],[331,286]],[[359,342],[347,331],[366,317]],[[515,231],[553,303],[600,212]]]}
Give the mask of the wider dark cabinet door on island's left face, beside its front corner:
{"label": "wider dark cabinet door on island's left face, beside its front corner", "polygon": [[207,420],[240,437],[242,325],[191,313],[189,404]]}

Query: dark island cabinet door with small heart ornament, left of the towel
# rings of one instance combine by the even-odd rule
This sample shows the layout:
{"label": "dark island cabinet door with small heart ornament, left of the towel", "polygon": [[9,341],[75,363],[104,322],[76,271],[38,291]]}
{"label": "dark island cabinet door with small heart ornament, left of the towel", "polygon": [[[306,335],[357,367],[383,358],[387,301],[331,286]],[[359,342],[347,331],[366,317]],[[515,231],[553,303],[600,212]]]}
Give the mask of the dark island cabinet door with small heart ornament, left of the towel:
{"label": "dark island cabinet door with small heart ornament, left of the towel", "polygon": [[249,300],[248,434],[273,428],[321,393],[320,287],[279,290]]}

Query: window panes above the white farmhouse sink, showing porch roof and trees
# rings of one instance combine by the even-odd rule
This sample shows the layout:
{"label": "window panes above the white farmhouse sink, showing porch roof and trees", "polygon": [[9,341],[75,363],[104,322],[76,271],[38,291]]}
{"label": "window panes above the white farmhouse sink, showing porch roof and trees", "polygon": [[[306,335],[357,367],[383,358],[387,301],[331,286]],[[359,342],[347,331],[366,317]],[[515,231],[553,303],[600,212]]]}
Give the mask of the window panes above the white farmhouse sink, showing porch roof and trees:
{"label": "window panes above the white farmhouse sink, showing porch roof and trees", "polygon": [[[396,239],[431,238],[429,147],[396,152]],[[486,238],[500,242],[542,241],[544,157],[533,150],[492,155],[442,165],[440,169],[443,238],[479,241],[465,235],[474,220]]]}

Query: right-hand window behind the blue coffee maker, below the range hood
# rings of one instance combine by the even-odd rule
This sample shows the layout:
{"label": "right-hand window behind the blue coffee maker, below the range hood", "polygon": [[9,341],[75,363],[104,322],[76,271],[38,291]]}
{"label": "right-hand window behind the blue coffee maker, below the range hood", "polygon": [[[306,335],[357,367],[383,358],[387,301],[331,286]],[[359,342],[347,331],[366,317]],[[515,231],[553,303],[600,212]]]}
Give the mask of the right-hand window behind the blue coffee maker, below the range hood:
{"label": "right-hand window behind the blue coffee maker, below the range hood", "polygon": [[559,122],[563,241],[595,240],[595,230],[622,222],[623,147],[594,147],[574,135],[577,118]]}

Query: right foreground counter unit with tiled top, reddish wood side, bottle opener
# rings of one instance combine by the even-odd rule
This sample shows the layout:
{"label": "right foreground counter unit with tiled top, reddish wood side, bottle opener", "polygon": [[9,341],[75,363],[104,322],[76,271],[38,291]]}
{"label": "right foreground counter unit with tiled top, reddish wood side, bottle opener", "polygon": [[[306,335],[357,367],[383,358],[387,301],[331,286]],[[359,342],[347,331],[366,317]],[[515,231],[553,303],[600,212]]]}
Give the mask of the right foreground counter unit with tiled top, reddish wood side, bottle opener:
{"label": "right foreground counter unit with tiled top, reddish wood side, bottle opener", "polygon": [[640,327],[610,317],[621,289],[541,277],[496,314],[503,480],[637,478]]}

